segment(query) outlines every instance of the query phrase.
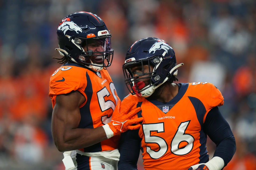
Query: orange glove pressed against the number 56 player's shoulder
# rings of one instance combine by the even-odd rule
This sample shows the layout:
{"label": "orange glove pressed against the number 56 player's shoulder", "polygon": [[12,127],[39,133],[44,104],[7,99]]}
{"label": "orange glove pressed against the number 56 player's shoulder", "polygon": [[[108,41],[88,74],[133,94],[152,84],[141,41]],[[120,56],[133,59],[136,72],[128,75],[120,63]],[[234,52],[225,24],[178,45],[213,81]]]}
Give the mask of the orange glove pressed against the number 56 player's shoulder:
{"label": "orange glove pressed against the number 56 player's shoulder", "polygon": [[[134,102],[130,102],[127,105],[127,107],[120,113],[121,100],[118,100],[117,106],[113,112],[111,122],[108,123],[109,127],[114,132],[114,136],[122,132],[125,132],[127,130],[135,130],[141,127],[141,124],[139,124],[139,122],[142,122],[143,118],[130,119],[139,111],[141,111],[140,107],[137,107],[136,109],[131,110],[134,104],[135,104]],[[132,125],[132,124],[136,124],[136,125]]]}

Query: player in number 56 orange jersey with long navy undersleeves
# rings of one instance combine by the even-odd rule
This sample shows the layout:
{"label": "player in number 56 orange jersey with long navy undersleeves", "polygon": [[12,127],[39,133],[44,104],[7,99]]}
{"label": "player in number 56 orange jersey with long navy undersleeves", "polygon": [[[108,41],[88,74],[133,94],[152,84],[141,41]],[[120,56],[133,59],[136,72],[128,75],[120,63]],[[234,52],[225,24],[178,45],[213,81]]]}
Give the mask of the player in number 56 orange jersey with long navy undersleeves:
{"label": "player in number 56 orange jersey with long navy undersleeves", "polygon": [[[146,170],[221,170],[236,145],[229,124],[218,107],[221,92],[211,83],[175,83],[175,52],[162,39],[144,38],[131,45],[123,73],[129,94],[122,101],[141,107],[141,128],[121,134],[118,169],[137,169],[141,148]],[[122,111],[122,107],[121,107]],[[207,135],[217,145],[209,161]]]}

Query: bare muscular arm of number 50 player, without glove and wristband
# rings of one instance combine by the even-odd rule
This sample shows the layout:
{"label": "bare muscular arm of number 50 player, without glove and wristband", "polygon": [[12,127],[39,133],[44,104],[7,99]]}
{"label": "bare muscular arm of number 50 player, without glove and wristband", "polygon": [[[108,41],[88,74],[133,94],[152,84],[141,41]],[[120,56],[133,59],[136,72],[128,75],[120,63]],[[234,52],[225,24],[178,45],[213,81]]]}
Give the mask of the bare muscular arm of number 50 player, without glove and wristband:
{"label": "bare muscular arm of number 50 player, without glove and wristband", "polygon": [[52,135],[59,151],[71,151],[91,146],[107,139],[104,128],[77,128],[80,122],[79,106],[85,97],[78,91],[58,95],[52,115]]}

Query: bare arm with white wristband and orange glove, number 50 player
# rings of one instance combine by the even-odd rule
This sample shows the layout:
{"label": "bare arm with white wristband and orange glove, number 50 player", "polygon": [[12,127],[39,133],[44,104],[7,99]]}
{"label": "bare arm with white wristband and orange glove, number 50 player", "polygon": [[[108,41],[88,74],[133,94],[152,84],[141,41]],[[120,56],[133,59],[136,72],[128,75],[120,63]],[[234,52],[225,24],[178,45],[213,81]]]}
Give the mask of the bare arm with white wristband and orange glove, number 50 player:
{"label": "bare arm with white wristband and orange glove, number 50 player", "polygon": [[[71,151],[89,147],[114,135],[119,135],[128,129],[140,128],[139,122],[143,118],[130,119],[141,108],[131,110],[133,103],[129,103],[120,113],[121,101],[113,112],[110,123],[94,129],[78,128],[80,122],[79,106],[85,102],[85,97],[78,91],[69,94],[58,95],[52,115],[52,135],[59,151]],[[132,126],[133,124],[138,124]]]}

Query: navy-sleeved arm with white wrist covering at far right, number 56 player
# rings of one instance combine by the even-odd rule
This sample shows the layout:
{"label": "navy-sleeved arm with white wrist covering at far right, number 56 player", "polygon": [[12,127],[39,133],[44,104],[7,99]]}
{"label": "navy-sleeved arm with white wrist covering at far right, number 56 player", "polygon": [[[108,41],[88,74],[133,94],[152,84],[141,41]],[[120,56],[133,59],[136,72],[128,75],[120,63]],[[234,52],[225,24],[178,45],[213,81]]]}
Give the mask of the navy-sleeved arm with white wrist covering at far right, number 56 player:
{"label": "navy-sleeved arm with white wrist covering at far right, number 56 player", "polygon": [[[204,165],[207,165],[209,170],[221,170],[232,159],[236,145],[230,126],[221,115],[218,107],[212,108],[207,114],[203,124],[203,131],[217,146],[213,159]],[[191,169],[197,169],[198,165],[192,166]],[[201,166],[203,168],[203,165]]]}

